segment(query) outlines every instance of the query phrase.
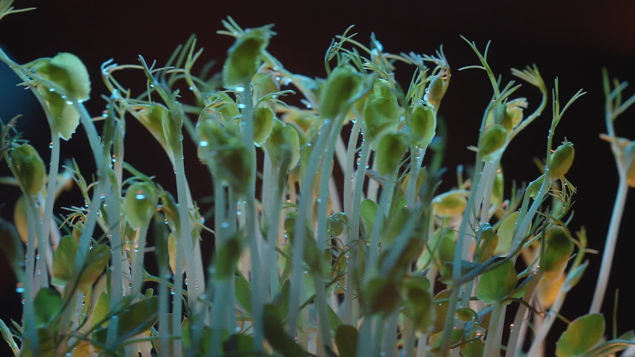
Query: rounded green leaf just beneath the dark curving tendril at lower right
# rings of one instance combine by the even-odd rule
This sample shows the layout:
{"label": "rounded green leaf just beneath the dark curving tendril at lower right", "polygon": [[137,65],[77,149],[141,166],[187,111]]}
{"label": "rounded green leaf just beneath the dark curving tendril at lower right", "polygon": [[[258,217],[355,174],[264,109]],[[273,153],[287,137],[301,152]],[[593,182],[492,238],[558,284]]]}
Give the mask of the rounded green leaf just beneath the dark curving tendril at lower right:
{"label": "rounded green leaf just beneath the dark curving tendril at lower right", "polygon": [[516,287],[514,263],[507,260],[501,266],[483,274],[476,286],[476,295],[486,304],[493,304],[507,297]]}

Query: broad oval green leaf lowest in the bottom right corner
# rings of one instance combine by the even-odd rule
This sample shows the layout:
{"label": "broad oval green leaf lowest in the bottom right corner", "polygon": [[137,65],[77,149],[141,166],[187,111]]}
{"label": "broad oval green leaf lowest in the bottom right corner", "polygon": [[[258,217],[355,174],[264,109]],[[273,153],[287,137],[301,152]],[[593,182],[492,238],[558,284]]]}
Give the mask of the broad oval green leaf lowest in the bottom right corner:
{"label": "broad oval green leaf lowest in the bottom right corner", "polygon": [[556,342],[556,356],[573,357],[589,351],[604,335],[604,328],[601,314],[587,314],[573,320]]}

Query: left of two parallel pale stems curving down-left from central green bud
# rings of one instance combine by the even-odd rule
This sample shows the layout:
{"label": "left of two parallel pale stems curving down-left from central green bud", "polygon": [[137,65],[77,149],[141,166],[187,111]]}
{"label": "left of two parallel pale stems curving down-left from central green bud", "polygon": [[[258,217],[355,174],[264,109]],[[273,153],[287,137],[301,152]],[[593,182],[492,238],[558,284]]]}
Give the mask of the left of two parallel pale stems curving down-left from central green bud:
{"label": "left of two parallel pale stems curving down-left from central green bud", "polygon": [[[343,118],[340,116],[338,121]],[[309,156],[309,163],[307,165],[304,180],[302,181],[302,196],[300,197],[300,205],[298,206],[298,215],[295,219],[295,226],[293,231],[296,234],[293,242],[293,257],[291,259],[291,296],[289,302],[289,319],[288,319],[288,332],[291,337],[295,337],[295,330],[298,324],[298,307],[300,306],[300,292],[304,289],[303,279],[303,255],[304,255],[304,239],[305,239],[305,224],[307,217],[309,217],[309,210],[313,206],[313,197],[311,195],[311,189],[315,182],[316,175],[318,174],[318,168],[321,158],[326,149],[326,139],[330,137],[331,130],[333,128],[333,120],[326,119],[318,134],[318,140],[312,147],[311,155]],[[339,135],[339,133],[338,133]]]}

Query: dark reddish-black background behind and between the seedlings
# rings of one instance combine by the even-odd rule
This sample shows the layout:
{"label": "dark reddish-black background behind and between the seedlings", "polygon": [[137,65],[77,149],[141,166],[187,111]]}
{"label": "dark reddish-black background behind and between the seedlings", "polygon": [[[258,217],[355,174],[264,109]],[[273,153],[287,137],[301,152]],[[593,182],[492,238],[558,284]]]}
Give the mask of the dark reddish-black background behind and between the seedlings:
{"label": "dark reddish-black background behind and between the seedlings", "polygon": [[[446,147],[446,187],[455,184],[453,170],[459,164],[473,165],[474,156],[467,145],[475,145],[483,109],[490,99],[491,87],[482,71],[461,71],[465,65],[478,64],[459,35],[476,41],[479,49],[491,40],[489,61],[504,81],[512,79],[511,67],[523,68],[537,64],[545,83],[551,88],[554,77],[560,80],[561,101],[565,102],[579,88],[587,95],[580,98],[566,113],[556,131],[554,144],[565,136],[575,144],[576,160],[568,179],[577,187],[575,217],[570,228],[577,231],[585,226],[589,247],[603,250],[606,229],[615,198],[617,171],[609,145],[599,140],[605,133],[603,119],[604,97],[601,86],[601,67],[608,67],[612,76],[622,80],[635,79],[635,3],[612,1],[531,1],[497,2],[440,2],[413,3],[385,1],[382,3],[338,1],[324,2],[258,2],[248,1],[17,1],[17,7],[36,6],[36,11],[11,15],[0,22],[0,45],[18,63],[39,57],[53,57],[61,51],[78,55],[91,73],[93,99],[86,105],[93,116],[104,109],[100,98],[105,93],[99,66],[114,58],[118,64],[136,64],[137,55],[148,62],[156,59],[164,64],[178,43],[196,33],[198,45],[205,48],[199,62],[216,60],[220,66],[232,39],[217,35],[220,21],[231,15],[242,27],[256,27],[275,23],[278,33],[271,40],[269,51],[287,69],[307,76],[323,77],[324,51],[331,38],[341,34],[351,24],[356,25],[356,39],[368,44],[371,31],[391,53],[415,51],[433,53],[439,44],[454,69],[452,81],[441,105],[441,114],[448,123],[450,136]],[[407,66],[398,67],[398,78],[407,86],[412,73]],[[139,72],[130,72],[129,81],[145,81]],[[120,72],[119,78],[126,77]],[[16,88],[18,78],[0,65],[0,118],[7,121],[16,114],[24,114],[18,129],[48,161],[48,126],[29,91]],[[137,92],[138,93],[138,92]],[[514,97],[528,97],[529,111],[538,105],[538,91],[525,85]],[[632,93],[632,89],[626,90]],[[625,112],[616,124],[617,134],[635,138],[633,125],[635,110]],[[523,131],[507,149],[502,160],[509,196],[511,180],[528,182],[539,173],[531,162],[534,156],[544,155],[545,138],[551,119],[550,105],[544,115]],[[188,142],[185,164],[194,198],[210,194],[208,175],[198,163],[194,146]],[[78,129],[70,142],[63,142],[62,159],[76,158],[80,168],[89,172],[92,159],[87,150],[84,132]],[[188,155],[189,154],[189,155]],[[128,121],[126,161],[157,181],[174,188],[169,161],[164,158],[150,135],[133,120]],[[4,163],[0,173],[8,175]],[[632,190],[631,190],[632,191]],[[0,214],[11,219],[13,202],[18,190],[0,188]],[[629,192],[632,196],[633,192]],[[81,205],[76,194],[65,194],[61,205]],[[58,205],[56,205],[58,206]],[[56,214],[61,211],[56,211]],[[610,333],[615,289],[620,289],[618,332],[635,327],[635,307],[630,302],[632,285],[632,232],[635,224],[635,198],[627,201],[620,229],[612,276],[603,305],[607,333]],[[210,236],[204,236],[210,238]],[[0,242],[0,244],[2,244]],[[587,255],[591,260],[582,282],[568,295],[561,313],[573,319],[587,313],[599,271],[601,255]],[[4,257],[0,257],[0,318],[19,320],[20,298],[15,293],[15,279]],[[549,343],[553,346],[565,324],[556,321]],[[4,351],[4,342],[0,342]],[[7,354],[10,353],[7,350]],[[549,353],[548,353],[549,354]]]}

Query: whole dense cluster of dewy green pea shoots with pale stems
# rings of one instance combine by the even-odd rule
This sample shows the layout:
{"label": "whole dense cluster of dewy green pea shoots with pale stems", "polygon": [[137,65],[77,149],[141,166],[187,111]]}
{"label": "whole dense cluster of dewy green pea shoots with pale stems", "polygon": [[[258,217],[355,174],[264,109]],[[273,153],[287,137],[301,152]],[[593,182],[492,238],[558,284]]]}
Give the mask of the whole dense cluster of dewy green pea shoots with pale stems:
{"label": "whole dense cluster of dewy green pea shoots with pale stems", "polygon": [[[0,18],[20,11],[11,3],[0,1]],[[310,78],[267,51],[272,25],[223,25],[218,34],[235,42],[218,75],[209,66],[192,72],[203,53],[195,37],[162,67],[142,56],[105,62],[109,93],[97,118],[84,107],[96,96],[79,57],[17,64],[0,50],[51,132],[48,171],[15,130],[19,117],[0,133],[14,176],[4,182],[22,189],[15,220],[1,222],[23,297],[22,321],[0,323],[15,356],[542,356],[558,318],[568,328],[557,356],[608,356],[633,343],[632,331],[608,339],[599,314],[635,185],[635,144],[613,130],[635,102],[622,101],[625,83],[605,73],[604,138],[620,184],[591,311],[569,321],[559,310],[590,250],[584,229],[568,228],[575,149],[558,144],[556,129],[582,90],[561,101],[558,79],[549,89],[535,65],[512,69],[540,92],[530,104],[514,96],[521,84],[490,68],[490,44],[481,52],[465,39],[478,64],[459,71],[483,71],[493,94],[465,151],[473,170],[440,192],[441,179],[454,180],[441,168],[452,74],[443,48],[387,53],[349,28],[326,50],[326,77]],[[407,87],[395,80],[397,62],[413,71]],[[117,80],[132,71],[145,76],[142,93]],[[542,175],[505,192],[505,149],[549,103]],[[131,121],[170,159],[176,192],[125,161]],[[88,136],[95,172],[74,162],[60,170],[60,138],[76,135]],[[184,140],[197,143],[197,158],[185,157]],[[185,159],[208,169],[209,214],[192,197]],[[55,217],[69,187],[84,201]],[[213,239],[213,252],[202,239]],[[146,259],[156,260],[156,275]]]}

